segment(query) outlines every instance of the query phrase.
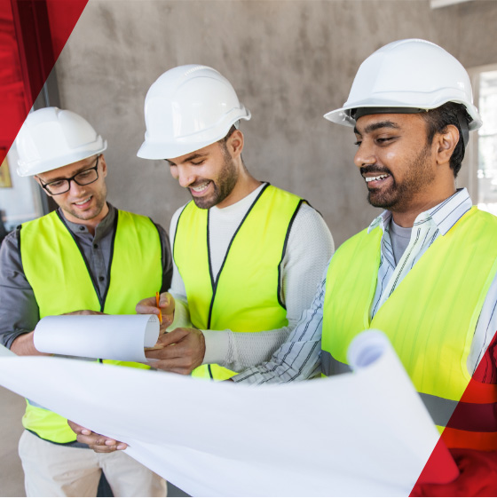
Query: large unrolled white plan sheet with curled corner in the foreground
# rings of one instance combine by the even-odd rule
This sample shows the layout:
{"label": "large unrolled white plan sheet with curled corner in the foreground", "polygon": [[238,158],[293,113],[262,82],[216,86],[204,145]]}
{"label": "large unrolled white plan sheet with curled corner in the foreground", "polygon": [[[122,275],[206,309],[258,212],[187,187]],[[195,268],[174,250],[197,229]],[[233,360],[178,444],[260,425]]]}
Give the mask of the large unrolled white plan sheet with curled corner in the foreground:
{"label": "large unrolled white plan sheet with curled corner in the foreground", "polygon": [[438,431],[385,336],[356,371],[249,387],[43,357],[0,356],[0,383],[130,445],[200,496],[406,496]]}

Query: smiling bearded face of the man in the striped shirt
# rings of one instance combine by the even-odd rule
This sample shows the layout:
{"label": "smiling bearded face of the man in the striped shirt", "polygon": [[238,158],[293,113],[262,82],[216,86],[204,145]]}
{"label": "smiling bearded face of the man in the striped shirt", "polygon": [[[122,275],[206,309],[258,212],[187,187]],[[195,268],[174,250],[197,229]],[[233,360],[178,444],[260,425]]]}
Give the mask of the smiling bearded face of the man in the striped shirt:
{"label": "smiling bearded face of the man in the striped shirt", "polygon": [[365,115],[354,131],[368,202],[402,213],[438,201],[437,158],[420,115]]}

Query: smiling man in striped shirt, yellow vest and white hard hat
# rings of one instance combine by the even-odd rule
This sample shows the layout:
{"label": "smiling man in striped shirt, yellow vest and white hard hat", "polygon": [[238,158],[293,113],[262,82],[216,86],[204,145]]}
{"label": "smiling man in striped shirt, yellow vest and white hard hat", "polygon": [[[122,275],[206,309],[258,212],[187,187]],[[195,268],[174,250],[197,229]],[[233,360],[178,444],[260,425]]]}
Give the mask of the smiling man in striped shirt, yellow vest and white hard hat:
{"label": "smiling man in striped shirt, yellow vest and white hard hat", "polygon": [[[288,342],[233,381],[289,382],[319,365],[340,374],[351,339],[379,328],[462,470],[415,493],[495,495],[497,218],[455,184],[469,131],[481,126],[469,76],[434,43],[390,43],[325,117],[353,128],[367,199],[385,210],[337,249]],[[455,409],[470,379],[477,395]]]}

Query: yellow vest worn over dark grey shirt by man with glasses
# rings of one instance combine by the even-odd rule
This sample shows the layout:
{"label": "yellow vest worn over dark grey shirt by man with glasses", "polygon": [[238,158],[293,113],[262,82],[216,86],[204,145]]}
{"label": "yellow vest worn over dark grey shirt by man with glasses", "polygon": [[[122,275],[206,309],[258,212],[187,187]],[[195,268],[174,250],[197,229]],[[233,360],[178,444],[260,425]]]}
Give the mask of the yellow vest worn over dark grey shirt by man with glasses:
{"label": "yellow vest worn over dark grey shirt by man with glasses", "polygon": [[[21,226],[20,256],[31,285],[40,319],[78,310],[108,314],[134,314],[140,299],[154,296],[162,286],[161,238],[154,223],[117,211],[109,284],[99,299],[83,251],[57,211]],[[129,367],[141,363],[109,361]],[[75,441],[67,419],[27,400],[22,423],[28,431],[56,443]]]}

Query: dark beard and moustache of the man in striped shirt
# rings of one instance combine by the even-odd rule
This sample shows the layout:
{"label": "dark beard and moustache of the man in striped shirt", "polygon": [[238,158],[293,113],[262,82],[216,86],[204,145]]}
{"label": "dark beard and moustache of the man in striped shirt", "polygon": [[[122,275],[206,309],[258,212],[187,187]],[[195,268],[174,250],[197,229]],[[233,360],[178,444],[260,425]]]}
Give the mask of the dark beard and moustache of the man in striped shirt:
{"label": "dark beard and moustache of the man in striped shirt", "polygon": [[391,186],[389,188],[371,189],[367,193],[367,202],[375,208],[403,211],[408,208],[416,194],[422,192],[424,186],[430,184],[435,178],[435,173],[430,170],[430,146],[425,146],[421,153],[412,161],[407,168],[406,178],[399,183],[388,168],[380,166],[367,166],[360,169],[363,173],[375,173],[390,175]]}

